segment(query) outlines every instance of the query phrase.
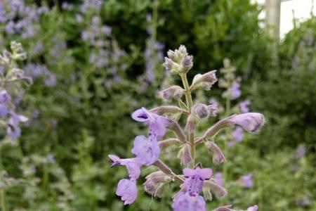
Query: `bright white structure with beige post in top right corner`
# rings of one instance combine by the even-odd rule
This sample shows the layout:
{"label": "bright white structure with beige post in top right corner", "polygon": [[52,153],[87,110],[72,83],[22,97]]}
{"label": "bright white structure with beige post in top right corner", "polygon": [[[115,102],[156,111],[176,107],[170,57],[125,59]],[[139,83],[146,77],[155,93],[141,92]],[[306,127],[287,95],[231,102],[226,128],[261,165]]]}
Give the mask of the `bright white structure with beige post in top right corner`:
{"label": "bright white structure with beige post in top right corner", "polygon": [[[264,5],[265,7],[270,6],[272,12],[263,10],[261,18],[266,18],[268,23],[277,22],[279,17],[279,37],[282,39],[291,29],[293,29],[293,18],[296,18],[298,22],[303,22],[316,14],[316,5],[314,0],[253,0],[258,4]],[[278,4],[280,2],[280,7]],[[315,1],[316,3],[316,1]],[[278,14],[277,14],[278,13]],[[279,15],[279,16],[278,16]],[[268,17],[269,16],[269,17]],[[276,27],[277,23],[276,23]],[[276,32],[277,33],[277,32]]]}

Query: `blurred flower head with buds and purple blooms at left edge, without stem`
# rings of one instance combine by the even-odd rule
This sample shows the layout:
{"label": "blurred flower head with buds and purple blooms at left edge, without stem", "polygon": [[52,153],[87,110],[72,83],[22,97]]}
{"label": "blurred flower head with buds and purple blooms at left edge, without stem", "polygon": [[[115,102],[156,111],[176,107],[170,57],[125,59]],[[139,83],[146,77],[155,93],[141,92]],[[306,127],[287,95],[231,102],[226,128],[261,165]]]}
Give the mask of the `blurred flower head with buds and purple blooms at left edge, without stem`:
{"label": "blurred flower head with buds and purple blooms at left edge, without stem", "polygon": [[[32,78],[25,76],[17,62],[25,60],[26,53],[21,44],[11,42],[11,52],[4,50],[0,55],[0,117],[1,124],[6,125],[6,135],[11,139],[18,139],[21,135],[20,122],[26,122],[27,117],[15,111],[15,97],[22,93],[19,91],[20,83],[32,84]],[[20,98],[20,96],[18,96]]]}

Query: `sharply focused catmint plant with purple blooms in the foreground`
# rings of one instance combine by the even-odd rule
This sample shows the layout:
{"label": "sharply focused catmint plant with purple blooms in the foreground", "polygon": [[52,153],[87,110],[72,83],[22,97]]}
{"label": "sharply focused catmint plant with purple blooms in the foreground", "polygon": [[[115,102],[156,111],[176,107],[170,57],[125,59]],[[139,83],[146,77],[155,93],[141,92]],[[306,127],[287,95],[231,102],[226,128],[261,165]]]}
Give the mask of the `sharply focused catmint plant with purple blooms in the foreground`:
{"label": "sharply focused catmint plant with purple blooms in the foreground", "polygon": [[[205,105],[192,101],[192,93],[198,90],[209,91],[217,82],[216,70],[204,74],[197,74],[189,84],[187,72],[193,67],[193,56],[187,53],[185,46],[180,46],[175,51],[168,51],[164,67],[173,75],[180,77],[183,87],[173,85],[162,90],[159,96],[164,101],[178,101],[178,106],[168,105],[157,108],[140,108],[131,117],[133,120],[143,122],[148,126],[147,136],[136,136],[133,142],[133,158],[119,158],[117,155],[109,155],[112,167],[124,165],[129,176],[121,179],[117,185],[117,196],[121,197],[124,205],[130,205],[138,196],[137,182],[140,177],[140,169],[143,166],[154,165],[156,172],[147,175],[143,184],[145,191],[152,196],[161,197],[171,182],[179,185],[179,191],[173,196],[171,207],[173,210],[206,210],[206,200],[212,199],[212,193],[216,198],[224,198],[228,191],[221,186],[220,179],[211,179],[213,170],[209,163],[197,162],[199,156],[195,153],[197,147],[206,147],[213,153],[213,164],[220,165],[225,162],[225,155],[216,143],[216,134],[221,129],[240,127],[251,134],[257,133],[263,126],[265,119],[261,113],[242,113],[241,115],[229,115],[216,122],[205,132],[197,131],[199,121],[216,115],[216,105]],[[237,82],[234,82],[237,83]],[[228,98],[237,98],[240,93],[238,84],[230,84],[232,87],[224,93]],[[183,101],[185,98],[185,101]],[[184,127],[180,126],[180,119],[185,120]],[[166,131],[172,131],[175,136],[164,139]],[[202,144],[204,143],[204,144]],[[182,173],[171,170],[160,157],[166,148],[178,146],[180,152],[180,164]],[[218,173],[216,177],[218,178]],[[218,207],[214,211],[232,211],[230,205]],[[258,206],[249,207],[247,211],[256,211]]]}

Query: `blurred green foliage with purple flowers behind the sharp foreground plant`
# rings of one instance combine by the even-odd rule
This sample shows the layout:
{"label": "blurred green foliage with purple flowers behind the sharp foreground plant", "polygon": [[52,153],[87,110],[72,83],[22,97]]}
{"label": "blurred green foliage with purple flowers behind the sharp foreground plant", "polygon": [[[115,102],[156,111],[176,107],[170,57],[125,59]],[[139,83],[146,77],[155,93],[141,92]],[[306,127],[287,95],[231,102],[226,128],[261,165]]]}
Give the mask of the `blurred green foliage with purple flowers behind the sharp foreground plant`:
{"label": "blurred green foliage with purple flowers behind the sharp foreground plant", "polygon": [[[13,11],[10,1],[4,5]],[[171,210],[176,186],[161,199],[139,191],[124,207],[115,189],[126,171],[110,169],[107,154],[131,155],[133,138],[144,132],[131,112],[162,103],[157,91],[170,79],[162,58],[180,44],[195,56],[190,79],[230,58],[242,97],[267,118],[261,134],[228,151],[228,199],[209,209],[316,210],[315,17],[296,24],[272,53],[275,41],[258,19],[262,8],[248,0],[25,0],[17,7],[13,23],[0,21],[0,46],[22,43],[34,84],[19,102],[32,117],[20,138],[22,164],[16,148],[2,149],[8,175],[25,181],[8,189],[9,210]],[[216,85],[203,97],[220,99],[220,91]],[[306,150],[296,159],[300,144]],[[238,182],[247,172],[254,174],[249,189]]]}

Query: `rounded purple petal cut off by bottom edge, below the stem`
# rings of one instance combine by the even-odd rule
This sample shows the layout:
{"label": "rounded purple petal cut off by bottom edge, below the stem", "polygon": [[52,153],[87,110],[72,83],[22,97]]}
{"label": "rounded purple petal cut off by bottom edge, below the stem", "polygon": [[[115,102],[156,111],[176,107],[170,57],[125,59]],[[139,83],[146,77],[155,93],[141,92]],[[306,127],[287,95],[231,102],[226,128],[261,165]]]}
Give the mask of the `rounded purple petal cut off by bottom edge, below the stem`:
{"label": "rounded purple petal cut off by bottom edge, below the stem", "polygon": [[192,197],[187,193],[180,193],[173,201],[174,211],[206,211],[206,203],[202,196]]}

